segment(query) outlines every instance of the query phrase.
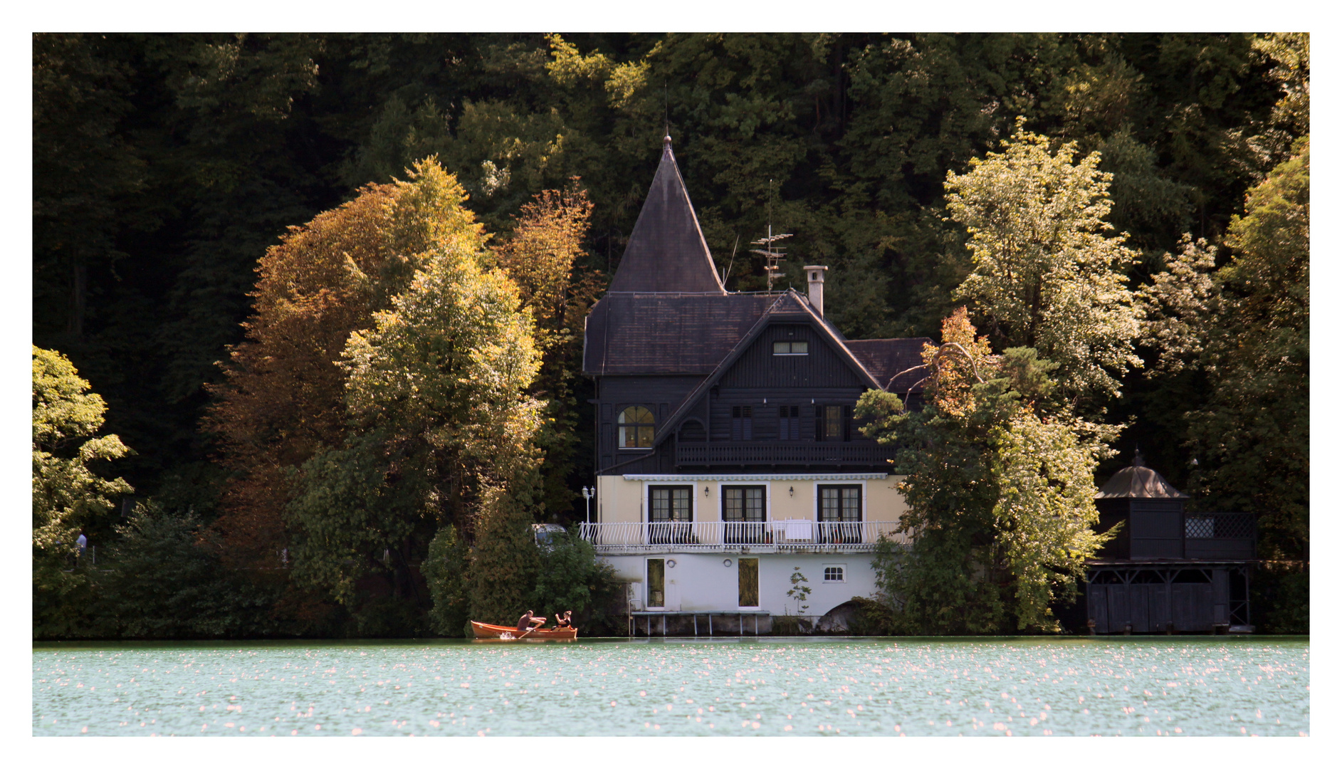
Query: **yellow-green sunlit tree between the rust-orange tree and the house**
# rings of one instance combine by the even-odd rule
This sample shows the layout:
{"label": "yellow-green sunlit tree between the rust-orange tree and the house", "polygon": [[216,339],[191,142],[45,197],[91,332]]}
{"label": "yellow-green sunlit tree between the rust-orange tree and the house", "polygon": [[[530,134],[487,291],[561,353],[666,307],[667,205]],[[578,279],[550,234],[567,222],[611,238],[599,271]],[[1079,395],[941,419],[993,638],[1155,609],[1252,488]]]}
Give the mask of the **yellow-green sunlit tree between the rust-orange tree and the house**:
{"label": "yellow-green sunlit tree between the rust-orange tree and the house", "polygon": [[416,597],[411,564],[436,527],[468,526],[482,487],[502,489],[530,523],[541,404],[525,391],[539,354],[515,285],[483,256],[433,251],[346,344],[348,436],[302,466],[289,505],[299,577],[342,603],[377,573]]}

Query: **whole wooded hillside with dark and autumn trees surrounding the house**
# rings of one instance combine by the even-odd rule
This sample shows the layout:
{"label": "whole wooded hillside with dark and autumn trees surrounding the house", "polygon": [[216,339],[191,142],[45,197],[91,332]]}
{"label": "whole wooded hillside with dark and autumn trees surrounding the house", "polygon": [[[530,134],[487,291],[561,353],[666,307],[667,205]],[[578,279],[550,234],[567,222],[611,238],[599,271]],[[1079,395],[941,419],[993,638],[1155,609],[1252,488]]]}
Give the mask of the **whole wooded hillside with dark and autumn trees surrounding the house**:
{"label": "whole wooded hillside with dark and autumn trees surrounding the house", "polygon": [[[993,361],[937,408],[1020,425],[868,393],[872,435],[1086,454],[1055,486],[1139,447],[1256,514],[1257,624],[1307,632],[1308,82],[1303,34],[35,35],[35,637],[617,628],[530,523],[582,519],[582,321],[664,134],[730,290],[792,232],[848,338]],[[1068,576],[1027,566],[1025,615]]]}

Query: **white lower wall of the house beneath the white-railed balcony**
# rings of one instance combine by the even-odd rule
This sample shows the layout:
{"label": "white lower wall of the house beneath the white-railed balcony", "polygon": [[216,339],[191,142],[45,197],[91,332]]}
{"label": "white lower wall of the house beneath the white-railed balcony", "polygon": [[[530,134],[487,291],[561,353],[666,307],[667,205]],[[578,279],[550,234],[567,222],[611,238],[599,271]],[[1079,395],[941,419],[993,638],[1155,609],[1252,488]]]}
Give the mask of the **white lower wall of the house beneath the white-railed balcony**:
{"label": "white lower wall of the house beneath the white-railed balcony", "polygon": [[[631,608],[637,612],[766,612],[772,616],[819,617],[854,596],[867,597],[876,592],[870,553],[718,552],[612,554],[601,558],[611,564],[619,580],[631,584]],[[758,574],[754,591],[750,585],[752,558]],[[652,565],[651,582],[650,560],[662,561]],[[742,565],[742,560],[747,562]],[[659,570],[662,589],[656,591]],[[798,570],[807,578],[801,586],[811,588],[811,595],[800,603],[788,596],[788,591],[796,586],[792,574]],[[754,599],[753,605],[742,603],[750,599]]]}

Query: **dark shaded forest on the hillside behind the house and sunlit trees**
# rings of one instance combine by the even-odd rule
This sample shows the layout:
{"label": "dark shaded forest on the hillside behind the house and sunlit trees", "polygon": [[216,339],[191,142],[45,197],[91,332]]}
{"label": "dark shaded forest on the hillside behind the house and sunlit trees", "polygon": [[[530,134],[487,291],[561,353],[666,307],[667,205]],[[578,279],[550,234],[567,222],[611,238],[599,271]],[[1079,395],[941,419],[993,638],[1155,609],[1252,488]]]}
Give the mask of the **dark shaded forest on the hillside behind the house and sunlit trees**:
{"label": "dark shaded forest on the hillside behind the house and sunlit trees", "polygon": [[[1204,256],[1216,250],[1224,266],[1264,252],[1267,239],[1232,235],[1245,238],[1241,247],[1223,238],[1245,192],[1288,161],[1292,142],[1308,130],[1308,48],[1306,34],[38,35],[34,338],[70,356],[106,397],[107,431],[138,450],[119,460],[118,474],[169,507],[192,505],[209,521],[220,491],[227,497],[238,486],[208,468],[217,446],[197,432],[203,385],[219,378],[213,361],[227,357],[227,345],[243,341],[256,258],[289,225],[352,197],[366,181],[415,184],[405,169],[436,153],[460,180],[459,192],[439,187],[451,192],[444,199],[455,196],[455,208],[444,211],[458,221],[474,212],[502,235],[534,193],[580,176],[595,204],[572,263],[573,285],[580,285],[617,264],[670,125],[715,254],[726,255],[737,236],[761,234],[772,199],[774,225],[797,234],[794,252],[831,266],[828,317],[844,333],[931,336],[976,268],[964,248],[969,235],[945,219],[947,172],[972,174],[970,158],[997,149],[1016,115],[1025,115],[1051,141],[1075,142],[1074,157],[1098,150],[1092,170],[1113,174],[1104,219],[1130,232],[1129,243],[1147,256],[1113,264],[1110,272],[1146,282],[1146,271],[1162,267],[1158,254],[1186,250],[1181,235],[1205,240],[1185,263],[1196,279],[1181,297],[1206,311],[1194,317],[1166,305],[1164,315],[1184,326],[1172,322],[1161,333],[1182,334],[1188,345],[1162,358],[1166,348],[1139,341],[1157,376],[1129,374],[1123,391],[1131,397],[1108,405],[1133,424],[1130,440],[1139,436],[1172,480],[1209,495],[1209,505],[1275,510],[1271,498],[1283,499],[1282,513],[1266,519],[1264,552],[1296,557],[1307,552],[1307,431],[1296,424],[1307,413],[1300,396],[1307,357],[1291,352],[1300,345],[1284,337],[1292,323],[1303,333],[1307,318],[1252,321],[1225,310],[1223,321],[1223,310],[1212,306],[1221,286],[1235,305],[1255,295],[1257,276],[1213,278]],[[1268,219],[1253,220],[1264,234],[1275,227]],[[482,252],[483,232],[470,238],[476,243],[463,248]],[[395,252],[385,272],[380,266],[341,283],[377,290],[358,313],[389,309],[431,250],[388,244],[385,251]],[[798,266],[785,263],[796,285]],[[486,258],[480,268],[488,267]],[[738,256],[727,282],[758,287],[758,263]],[[1204,291],[1213,280],[1216,289]],[[1286,289],[1291,283],[1295,289]],[[1307,279],[1275,285],[1291,297]],[[1068,301],[1084,309],[1084,294]],[[330,298],[303,299],[323,297]],[[311,306],[305,302],[295,307]],[[1271,315],[1261,303],[1244,309]],[[1078,380],[1099,381],[1096,401],[1078,404],[1094,413],[1090,408],[1117,389],[1118,372],[1137,365],[1125,360],[1123,333],[1114,333],[1123,323],[1104,325],[1129,310],[1123,301],[1113,310],[1094,333],[1082,327],[1076,346],[994,341],[997,349],[1032,346],[1059,362],[1059,391],[1051,397],[1074,397]],[[1078,325],[1091,322],[1083,315]],[[545,325],[539,313],[535,321]],[[576,333],[580,323],[562,326]],[[356,327],[368,325],[333,334],[336,350]],[[1241,337],[1249,354],[1239,365],[1229,342]],[[581,484],[590,454],[582,450],[590,440],[586,385],[576,378],[562,392],[564,374],[577,370],[574,348],[573,338],[556,348],[542,344],[548,369],[529,389],[578,407],[550,405],[542,419],[553,419],[553,429],[534,439],[549,455],[542,466],[548,513],[561,517],[573,497],[565,486]],[[1111,357],[1078,374],[1076,360],[1090,354]],[[1283,356],[1288,364],[1274,368]],[[330,369],[334,357],[311,370]],[[310,361],[285,360],[302,382],[293,388],[299,401],[310,381],[336,378],[305,377],[298,372]],[[1263,388],[1259,411],[1251,405],[1255,387]],[[966,381],[966,399],[969,389]],[[283,397],[262,411],[283,413],[290,392],[270,395]],[[234,522],[234,531],[248,531],[262,530],[248,525],[264,519],[259,558],[287,535],[279,521],[287,495],[268,493],[285,483],[283,467],[309,459],[317,444],[350,448],[330,438],[344,429],[338,400],[325,397],[325,411],[313,412],[317,421],[305,413],[293,423],[266,423],[290,438],[286,448],[298,447],[293,455],[272,463],[268,452],[240,451],[258,458],[258,475],[268,474],[248,487],[252,502],[271,501],[268,517]],[[1282,415],[1299,417],[1278,421]],[[1228,440],[1219,442],[1221,433]],[[382,435],[408,433],[388,425]],[[1180,480],[1189,460],[1181,443],[1189,439],[1201,462],[1192,484]],[[401,509],[413,522],[409,545],[360,545],[376,564],[391,546],[397,601],[415,591],[397,553],[405,564],[423,557],[444,515],[463,537],[471,533],[467,515],[478,493],[468,471],[454,471],[455,460],[444,466],[444,454],[425,444],[415,438],[369,447],[358,462],[345,458],[366,478],[373,478],[369,468],[385,470],[380,483],[386,489],[378,494],[420,503]],[[429,478],[423,491],[401,484],[416,474]],[[366,574],[386,570],[368,566]],[[39,603],[48,605],[48,597]]]}

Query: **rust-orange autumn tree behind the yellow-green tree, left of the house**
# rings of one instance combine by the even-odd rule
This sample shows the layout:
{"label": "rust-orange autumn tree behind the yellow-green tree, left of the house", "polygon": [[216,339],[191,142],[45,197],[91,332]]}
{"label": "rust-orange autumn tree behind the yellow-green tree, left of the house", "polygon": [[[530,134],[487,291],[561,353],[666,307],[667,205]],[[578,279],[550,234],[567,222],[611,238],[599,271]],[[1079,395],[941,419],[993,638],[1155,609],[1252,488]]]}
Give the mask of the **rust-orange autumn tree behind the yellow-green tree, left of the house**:
{"label": "rust-orange autumn tree behind the yellow-green tree, left of the house", "polygon": [[260,259],[247,341],[231,349],[205,421],[236,474],[216,523],[229,562],[279,561],[289,542],[286,468],[342,440],[346,374],[337,361],[350,333],[372,325],[429,248],[483,244],[463,200],[460,187],[424,161],[408,181],[368,185],[291,228]]}

